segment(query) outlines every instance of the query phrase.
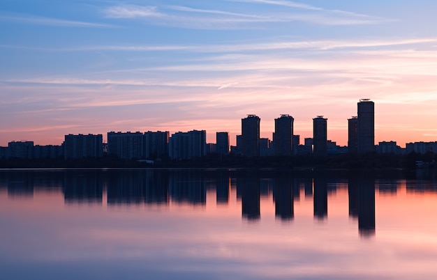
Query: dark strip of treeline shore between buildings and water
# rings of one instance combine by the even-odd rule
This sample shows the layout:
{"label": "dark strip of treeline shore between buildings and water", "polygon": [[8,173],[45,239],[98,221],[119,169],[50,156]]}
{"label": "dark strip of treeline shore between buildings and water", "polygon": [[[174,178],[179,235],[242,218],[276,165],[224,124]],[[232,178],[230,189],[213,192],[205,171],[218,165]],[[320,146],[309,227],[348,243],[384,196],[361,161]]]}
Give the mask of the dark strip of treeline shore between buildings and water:
{"label": "dark strip of treeline shore between buildings and water", "polygon": [[15,168],[135,168],[135,167],[223,167],[223,168],[330,168],[330,169],[415,169],[416,162],[437,162],[437,154],[409,153],[394,155],[383,153],[339,155],[293,155],[269,157],[245,157],[243,155],[208,154],[190,160],[170,160],[166,157],[151,162],[123,160],[114,155],[104,157],[83,157],[80,159],[20,159],[9,158],[0,160],[0,169]]}

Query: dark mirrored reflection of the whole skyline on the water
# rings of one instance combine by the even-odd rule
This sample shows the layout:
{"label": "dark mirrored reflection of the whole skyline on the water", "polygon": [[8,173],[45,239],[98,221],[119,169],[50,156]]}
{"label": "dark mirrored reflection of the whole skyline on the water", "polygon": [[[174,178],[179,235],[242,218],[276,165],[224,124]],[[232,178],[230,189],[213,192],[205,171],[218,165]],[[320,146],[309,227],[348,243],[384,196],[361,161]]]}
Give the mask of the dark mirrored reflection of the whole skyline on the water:
{"label": "dark mirrored reflection of the whole skyline on the water", "polygon": [[[374,179],[371,176],[349,176],[348,180],[329,178],[325,173],[306,173],[295,177],[288,172],[258,170],[68,170],[68,171],[0,171],[0,192],[11,198],[31,199],[37,192],[60,192],[65,203],[98,203],[108,205],[206,205],[207,193],[216,193],[217,205],[228,205],[230,194],[241,201],[243,219],[259,220],[260,205],[273,199],[275,217],[282,221],[295,218],[299,194],[302,203],[313,201],[314,219],[327,219],[328,199],[336,189],[348,191],[349,216],[357,221],[359,233],[376,232],[375,193],[437,192],[437,180]],[[231,192],[232,190],[232,192]],[[6,191],[6,192],[5,192]],[[214,196],[208,196],[209,199]],[[262,205],[261,205],[262,206]]]}

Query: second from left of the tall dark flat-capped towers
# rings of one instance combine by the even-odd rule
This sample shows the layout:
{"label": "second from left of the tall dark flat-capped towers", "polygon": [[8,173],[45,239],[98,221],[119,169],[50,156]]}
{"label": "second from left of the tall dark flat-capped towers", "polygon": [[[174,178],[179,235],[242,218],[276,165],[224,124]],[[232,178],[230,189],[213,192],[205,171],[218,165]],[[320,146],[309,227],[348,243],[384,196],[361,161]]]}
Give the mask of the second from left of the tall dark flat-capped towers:
{"label": "second from left of the tall dark flat-capped towers", "polygon": [[274,154],[292,155],[293,121],[290,115],[281,115],[274,119]]}

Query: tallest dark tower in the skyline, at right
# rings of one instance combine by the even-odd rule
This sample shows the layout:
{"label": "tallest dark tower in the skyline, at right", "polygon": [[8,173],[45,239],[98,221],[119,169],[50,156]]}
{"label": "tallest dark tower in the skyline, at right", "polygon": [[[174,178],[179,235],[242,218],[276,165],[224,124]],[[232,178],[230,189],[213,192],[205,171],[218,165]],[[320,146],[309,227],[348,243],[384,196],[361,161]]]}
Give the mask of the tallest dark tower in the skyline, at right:
{"label": "tallest dark tower in the skyline, at right", "polygon": [[375,150],[375,103],[369,99],[358,102],[358,153]]}

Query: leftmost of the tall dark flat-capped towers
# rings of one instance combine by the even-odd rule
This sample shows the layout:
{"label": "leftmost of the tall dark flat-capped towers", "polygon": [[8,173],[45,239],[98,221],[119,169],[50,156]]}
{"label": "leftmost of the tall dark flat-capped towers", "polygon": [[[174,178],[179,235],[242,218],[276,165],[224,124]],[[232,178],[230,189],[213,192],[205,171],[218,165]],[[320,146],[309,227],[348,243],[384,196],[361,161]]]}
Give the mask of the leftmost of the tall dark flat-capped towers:
{"label": "leftmost of the tall dark flat-capped towers", "polygon": [[246,157],[260,155],[260,118],[247,115],[242,118],[242,153]]}

